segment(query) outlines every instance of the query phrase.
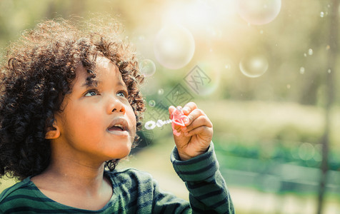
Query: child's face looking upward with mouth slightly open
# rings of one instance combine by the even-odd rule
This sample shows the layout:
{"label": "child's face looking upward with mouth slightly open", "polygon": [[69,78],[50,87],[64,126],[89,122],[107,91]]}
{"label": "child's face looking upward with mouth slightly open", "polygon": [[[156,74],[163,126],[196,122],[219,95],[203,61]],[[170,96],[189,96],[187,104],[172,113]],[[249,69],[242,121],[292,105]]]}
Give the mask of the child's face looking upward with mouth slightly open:
{"label": "child's face looking upward with mouth slightly open", "polygon": [[136,117],[119,69],[108,58],[96,61],[96,84],[86,85],[86,68],[76,69],[72,92],[56,114],[59,141],[65,150],[90,160],[107,161],[129,155],[136,135]]}

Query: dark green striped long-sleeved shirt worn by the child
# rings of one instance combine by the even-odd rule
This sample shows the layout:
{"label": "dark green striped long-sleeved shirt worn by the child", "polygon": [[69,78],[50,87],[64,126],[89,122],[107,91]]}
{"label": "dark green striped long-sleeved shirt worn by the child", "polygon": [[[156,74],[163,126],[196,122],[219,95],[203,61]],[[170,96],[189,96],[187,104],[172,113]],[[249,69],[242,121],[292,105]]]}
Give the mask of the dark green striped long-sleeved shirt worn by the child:
{"label": "dark green striped long-sleeved shirt worn by the child", "polygon": [[174,148],[171,162],[189,190],[189,202],[159,190],[148,173],[136,169],[114,170],[104,175],[111,180],[113,195],[101,210],[81,210],[47,198],[30,177],[0,195],[0,213],[234,213],[226,183],[219,172],[214,146],[179,161]]}

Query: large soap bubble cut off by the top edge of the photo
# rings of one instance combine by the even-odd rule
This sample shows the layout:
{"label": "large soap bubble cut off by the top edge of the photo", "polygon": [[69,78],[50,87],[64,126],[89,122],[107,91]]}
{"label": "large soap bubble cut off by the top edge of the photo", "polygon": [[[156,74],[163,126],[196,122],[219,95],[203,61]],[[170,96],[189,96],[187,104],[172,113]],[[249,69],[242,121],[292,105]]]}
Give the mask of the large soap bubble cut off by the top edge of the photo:
{"label": "large soap bubble cut off by the top edge of the photo", "polygon": [[281,10],[281,0],[239,0],[239,15],[249,24],[268,24]]}

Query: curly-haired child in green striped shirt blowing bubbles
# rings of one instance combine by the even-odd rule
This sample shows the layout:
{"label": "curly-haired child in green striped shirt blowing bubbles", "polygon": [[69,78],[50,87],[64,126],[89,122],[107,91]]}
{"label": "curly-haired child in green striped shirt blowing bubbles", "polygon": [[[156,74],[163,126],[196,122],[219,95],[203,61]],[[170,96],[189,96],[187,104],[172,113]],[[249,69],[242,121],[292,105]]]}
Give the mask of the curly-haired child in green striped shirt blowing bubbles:
{"label": "curly-haired child in green striped shirt blowing bubbles", "polygon": [[[195,103],[174,126],[171,161],[190,203],[147,173],[115,170],[141,129],[141,76],[118,24],[45,21],[9,46],[0,73],[0,176],[21,182],[0,195],[0,213],[234,213]],[[169,108],[169,113],[175,107]]]}

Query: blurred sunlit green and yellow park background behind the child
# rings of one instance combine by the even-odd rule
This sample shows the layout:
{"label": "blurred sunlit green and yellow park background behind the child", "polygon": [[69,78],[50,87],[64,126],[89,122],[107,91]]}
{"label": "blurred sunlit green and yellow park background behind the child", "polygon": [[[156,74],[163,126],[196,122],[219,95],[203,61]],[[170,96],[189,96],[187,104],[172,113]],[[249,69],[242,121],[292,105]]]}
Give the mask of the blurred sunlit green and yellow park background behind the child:
{"label": "blurred sunlit green and yellow park background behind the child", "polygon": [[[0,0],[0,49],[44,19],[114,16],[146,75],[144,122],[196,102],[237,213],[340,213],[339,11],[337,0]],[[171,126],[140,135],[119,167],[188,198]]]}

